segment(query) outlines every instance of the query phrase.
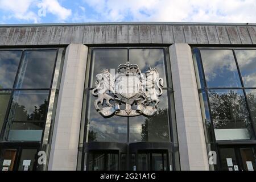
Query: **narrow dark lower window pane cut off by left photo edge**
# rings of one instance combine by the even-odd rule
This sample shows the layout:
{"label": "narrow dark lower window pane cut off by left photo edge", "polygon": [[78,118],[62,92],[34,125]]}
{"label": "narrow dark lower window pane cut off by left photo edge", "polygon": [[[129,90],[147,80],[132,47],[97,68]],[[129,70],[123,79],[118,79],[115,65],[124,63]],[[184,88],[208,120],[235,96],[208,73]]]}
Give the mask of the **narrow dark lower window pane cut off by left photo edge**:
{"label": "narrow dark lower window pane cut off by left photo edge", "polygon": [[9,104],[10,94],[11,92],[9,91],[0,91],[0,132],[5,122],[5,114]]}

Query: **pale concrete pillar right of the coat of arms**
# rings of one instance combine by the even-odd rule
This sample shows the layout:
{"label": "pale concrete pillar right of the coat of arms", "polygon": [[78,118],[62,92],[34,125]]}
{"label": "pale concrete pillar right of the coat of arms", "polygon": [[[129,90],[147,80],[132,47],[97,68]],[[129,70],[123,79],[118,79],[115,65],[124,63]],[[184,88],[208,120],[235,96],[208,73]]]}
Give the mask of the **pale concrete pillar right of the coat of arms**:
{"label": "pale concrete pillar right of the coat of arms", "polygon": [[209,170],[191,47],[169,47],[181,170]]}

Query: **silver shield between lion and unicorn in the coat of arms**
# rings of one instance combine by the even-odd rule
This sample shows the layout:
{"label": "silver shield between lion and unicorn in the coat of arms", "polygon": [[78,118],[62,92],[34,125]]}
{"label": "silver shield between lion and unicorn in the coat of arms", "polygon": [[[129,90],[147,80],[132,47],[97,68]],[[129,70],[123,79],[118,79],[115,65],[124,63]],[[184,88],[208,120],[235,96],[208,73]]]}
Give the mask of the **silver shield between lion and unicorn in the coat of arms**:
{"label": "silver shield between lion and unicorn in the coat of arms", "polygon": [[141,96],[142,84],[137,75],[122,74],[115,80],[115,94],[123,102],[133,104]]}

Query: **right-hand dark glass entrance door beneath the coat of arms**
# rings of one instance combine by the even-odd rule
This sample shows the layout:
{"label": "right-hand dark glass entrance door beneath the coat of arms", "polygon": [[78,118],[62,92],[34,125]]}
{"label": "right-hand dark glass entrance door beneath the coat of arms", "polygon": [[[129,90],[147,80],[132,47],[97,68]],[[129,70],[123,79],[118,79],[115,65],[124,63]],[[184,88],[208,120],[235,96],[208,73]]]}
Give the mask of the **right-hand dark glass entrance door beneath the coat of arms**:
{"label": "right-hand dark glass entrance door beneath the coat of arms", "polygon": [[138,171],[167,171],[167,151],[139,151]]}

